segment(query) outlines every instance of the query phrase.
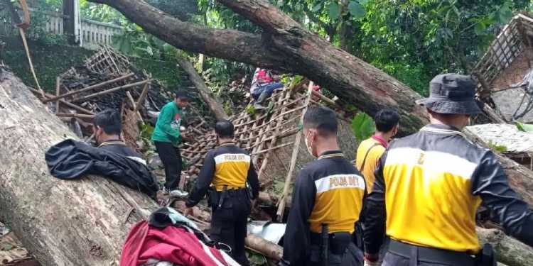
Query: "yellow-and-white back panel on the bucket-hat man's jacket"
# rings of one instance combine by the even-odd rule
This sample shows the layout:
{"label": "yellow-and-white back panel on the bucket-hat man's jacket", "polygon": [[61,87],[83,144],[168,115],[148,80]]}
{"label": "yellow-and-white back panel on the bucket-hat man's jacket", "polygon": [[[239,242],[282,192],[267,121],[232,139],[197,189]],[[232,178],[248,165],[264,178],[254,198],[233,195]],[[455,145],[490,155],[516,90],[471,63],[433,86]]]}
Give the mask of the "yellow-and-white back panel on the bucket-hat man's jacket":
{"label": "yellow-and-white back panel on the bucket-hat man's jacket", "polygon": [[416,148],[389,150],[384,164],[387,235],[431,248],[475,253],[475,212],[470,192],[477,165],[456,155]]}

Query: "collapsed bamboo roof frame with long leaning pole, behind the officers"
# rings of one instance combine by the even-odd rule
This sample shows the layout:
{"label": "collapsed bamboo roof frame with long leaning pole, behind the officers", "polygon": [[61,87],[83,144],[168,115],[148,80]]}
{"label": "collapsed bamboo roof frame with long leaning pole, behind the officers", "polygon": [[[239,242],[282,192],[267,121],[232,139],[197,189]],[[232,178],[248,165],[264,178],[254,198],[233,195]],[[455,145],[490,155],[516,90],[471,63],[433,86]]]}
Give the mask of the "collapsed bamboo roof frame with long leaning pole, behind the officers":
{"label": "collapsed bamboo roof frame with long leaning pole, behind the officers", "polygon": [[[235,125],[236,144],[252,155],[263,191],[260,198],[278,206],[279,220],[284,216],[291,180],[299,167],[313,159],[306,152],[301,134],[297,134],[301,131],[303,114],[309,106],[316,105],[328,105],[342,113],[335,101],[313,90],[312,82],[307,86],[307,82],[274,92],[265,111],[247,110],[231,118]],[[342,115],[339,118],[341,148],[355,150],[357,143],[350,122]],[[192,130],[195,131],[195,142],[181,147],[181,155],[188,165],[181,179],[182,189],[190,187],[190,180],[200,172],[205,154],[216,145],[213,131]],[[348,154],[349,159],[353,156]]]}

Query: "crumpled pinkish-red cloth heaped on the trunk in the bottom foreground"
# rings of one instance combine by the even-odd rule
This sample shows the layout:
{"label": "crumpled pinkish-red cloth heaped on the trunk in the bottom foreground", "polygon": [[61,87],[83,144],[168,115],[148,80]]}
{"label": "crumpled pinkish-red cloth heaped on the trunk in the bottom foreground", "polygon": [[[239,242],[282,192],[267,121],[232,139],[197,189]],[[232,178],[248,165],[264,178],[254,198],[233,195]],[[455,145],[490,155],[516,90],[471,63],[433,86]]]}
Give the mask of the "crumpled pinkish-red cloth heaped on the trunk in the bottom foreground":
{"label": "crumpled pinkish-red cloth heaped on the trunk in the bottom foreground", "polygon": [[149,226],[146,221],[140,221],[129,231],[122,248],[120,266],[143,265],[149,259],[184,266],[216,266],[217,263],[208,253],[222,265],[229,265],[219,250],[204,247],[194,233],[185,228],[155,228]]}

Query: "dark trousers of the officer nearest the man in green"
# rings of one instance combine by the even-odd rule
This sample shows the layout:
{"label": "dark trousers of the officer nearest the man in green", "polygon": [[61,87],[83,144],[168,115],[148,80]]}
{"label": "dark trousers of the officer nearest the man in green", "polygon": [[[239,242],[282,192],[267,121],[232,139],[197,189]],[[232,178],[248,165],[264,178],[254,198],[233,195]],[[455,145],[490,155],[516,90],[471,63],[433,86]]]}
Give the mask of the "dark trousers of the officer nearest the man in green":
{"label": "dark trousers of the officer nearest the man in green", "polygon": [[244,252],[244,238],[247,235],[247,219],[252,205],[244,189],[228,192],[221,208],[212,206],[210,237],[225,243],[232,249],[230,256],[240,265],[249,265]]}

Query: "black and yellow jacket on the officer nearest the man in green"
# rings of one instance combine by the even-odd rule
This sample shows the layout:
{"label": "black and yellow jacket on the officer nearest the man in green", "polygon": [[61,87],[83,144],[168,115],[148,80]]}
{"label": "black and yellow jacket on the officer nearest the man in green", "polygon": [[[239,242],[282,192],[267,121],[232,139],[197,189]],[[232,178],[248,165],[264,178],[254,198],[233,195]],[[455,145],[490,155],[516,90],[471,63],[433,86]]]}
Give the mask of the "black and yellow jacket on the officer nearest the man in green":
{"label": "black and yellow jacket on the officer nearest the man in green", "polygon": [[205,156],[198,180],[185,205],[192,207],[198,204],[211,185],[220,192],[224,186],[227,189],[244,189],[247,181],[252,188],[252,199],[257,198],[259,180],[249,153],[233,143],[222,144]]}

